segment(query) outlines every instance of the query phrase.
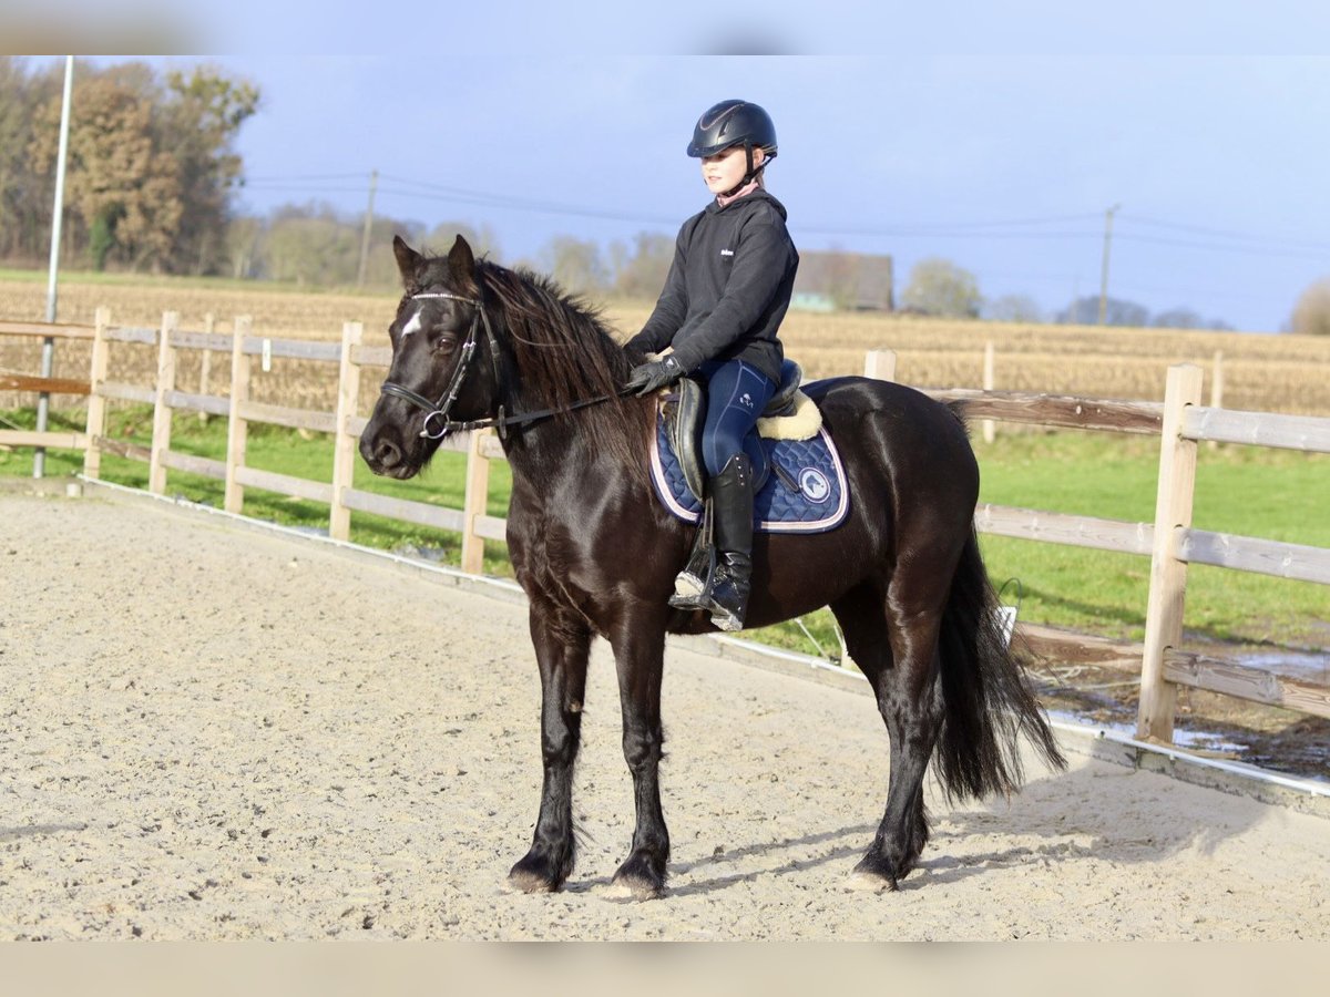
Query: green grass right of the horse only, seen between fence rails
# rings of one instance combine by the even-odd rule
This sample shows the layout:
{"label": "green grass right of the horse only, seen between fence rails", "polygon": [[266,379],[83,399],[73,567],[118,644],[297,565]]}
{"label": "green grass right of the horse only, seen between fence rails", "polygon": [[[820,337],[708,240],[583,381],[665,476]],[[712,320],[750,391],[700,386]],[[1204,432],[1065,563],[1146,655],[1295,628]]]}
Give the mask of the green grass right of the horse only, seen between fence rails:
{"label": "green grass right of the horse only, seen between fence rails", "polygon": [[[1158,440],[1103,433],[1021,433],[976,443],[980,498],[1129,522],[1153,522]],[[1254,447],[1198,449],[1193,525],[1330,548],[1323,509],[1330,459]],[[1019,578],[1021,618],[1111,637],[1145,633],[1149,558],[1008,537],[982,537],[998,584]],[[1016,586],[1008,588],[1013,600]],[[1321,646],[1325,586],[1245,572],[1188,570],[1185,629],[1197,639]]]}

